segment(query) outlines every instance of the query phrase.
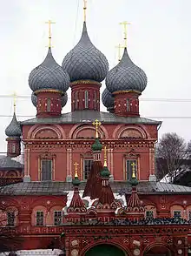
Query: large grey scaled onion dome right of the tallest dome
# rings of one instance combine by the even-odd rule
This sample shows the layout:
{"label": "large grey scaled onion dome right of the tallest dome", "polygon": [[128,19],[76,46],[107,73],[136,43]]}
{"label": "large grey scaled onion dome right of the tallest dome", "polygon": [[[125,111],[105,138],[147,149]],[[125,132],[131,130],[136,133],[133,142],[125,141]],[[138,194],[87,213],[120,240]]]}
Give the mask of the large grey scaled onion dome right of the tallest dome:
{"label": "large grey scaled onion dome right of the tallest dome", "polygon": [[147,76],[142,69],[137,67],[125,48],[122,60],[106,77],[106,87],[113,93],[115,91],[139,91],[142,92],[147,86]]}

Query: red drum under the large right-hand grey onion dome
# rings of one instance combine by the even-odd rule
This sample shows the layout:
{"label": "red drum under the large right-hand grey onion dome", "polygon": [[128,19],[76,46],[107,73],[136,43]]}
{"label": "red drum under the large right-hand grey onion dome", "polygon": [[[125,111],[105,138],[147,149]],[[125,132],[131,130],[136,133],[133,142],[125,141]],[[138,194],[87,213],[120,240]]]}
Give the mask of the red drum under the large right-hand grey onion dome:
{"label": "red drum under the large right-hand grey onion dome", "polygon": [[135,91],[115,93],[115,114],[122,117],[139,117],[139,95]]}

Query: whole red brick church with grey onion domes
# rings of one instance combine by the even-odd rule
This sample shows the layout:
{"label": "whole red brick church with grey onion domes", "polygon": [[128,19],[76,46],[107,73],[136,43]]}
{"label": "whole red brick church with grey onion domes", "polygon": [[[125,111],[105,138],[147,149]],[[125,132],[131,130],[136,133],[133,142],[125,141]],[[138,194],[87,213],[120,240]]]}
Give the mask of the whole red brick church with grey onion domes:
{"label": "whole red brick church with grey onion domes", "polygon": [[[56,63],[49,44],[29,85],[36,118],[18,122],[14,111],[5,131],[7,156],[0,159],[0,228],[12,238],[4,251],[188,255],[191,188],[156,181],[161,122],[140,116],[147,76],[127,45],[109,70],[84,20],[82,37],[63,64]],[[69,86],[71,111],[62,113]],[[22,242],[15,244],[16,237]]]}

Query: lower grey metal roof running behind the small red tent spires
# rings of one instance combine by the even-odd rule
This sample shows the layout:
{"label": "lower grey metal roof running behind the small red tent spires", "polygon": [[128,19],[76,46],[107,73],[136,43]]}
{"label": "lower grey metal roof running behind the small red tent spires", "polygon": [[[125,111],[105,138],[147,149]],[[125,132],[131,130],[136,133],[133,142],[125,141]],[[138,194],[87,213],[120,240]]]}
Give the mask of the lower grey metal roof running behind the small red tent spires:
{"label": "lower grey metal roof running behind the small red tent spires", "polygon": [[[85,182],[79,186],[84,190]],[[131,185],[124,181],[110,183],[113,192],[131,193]],[[0,187],[0,195],[63,195],[73,190],[73,185],[67,182],[21,182]],[[191,187],[174,185],[155,181],[141,181],[137,185],[139,194],[191,194]]]}

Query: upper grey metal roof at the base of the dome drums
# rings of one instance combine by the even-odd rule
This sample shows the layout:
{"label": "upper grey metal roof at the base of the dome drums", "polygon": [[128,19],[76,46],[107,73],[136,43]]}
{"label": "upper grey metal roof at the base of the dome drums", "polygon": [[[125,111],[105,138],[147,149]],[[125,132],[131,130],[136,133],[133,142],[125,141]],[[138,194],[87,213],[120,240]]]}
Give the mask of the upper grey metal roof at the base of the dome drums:
{"label": "upper grey metal roof at the base of the dome drums", "polygon": [[148,118],[124,118],[117,117],[114,113],[101,111],[74,111],[64,113],[59,118],[33,118],[21,122],[21,125],[34,124],[82,124],[92,123],[98,119],[102,124],[147,124],[161,125],[161,121],[151,120]]}

